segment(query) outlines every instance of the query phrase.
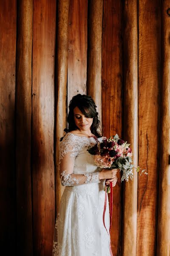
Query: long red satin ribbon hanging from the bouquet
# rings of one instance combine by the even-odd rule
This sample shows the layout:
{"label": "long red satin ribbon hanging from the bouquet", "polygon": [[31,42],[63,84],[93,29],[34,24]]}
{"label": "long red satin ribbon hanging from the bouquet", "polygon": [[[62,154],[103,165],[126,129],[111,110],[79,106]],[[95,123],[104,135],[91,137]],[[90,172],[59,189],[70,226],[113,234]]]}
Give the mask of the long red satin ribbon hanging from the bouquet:
{"label": "long red satin ribbon hanging from the bouquet", "polygon": [[[110,182],[110,187],[111,187],[111,195],[110,195],[110,201],[109,201],[109,206],[110,206],[110,227],[109,227],[109,233],[111,232],[111,223],[112,223],[112,212],[113,212],[113,186],[112,186],[112,182]],[[105,226],[105,212],[106,212],[106,203],[107,203],[107,188],[105,185],[105,204],[104,204],[104,210],[103,210],[103,224],[104,227],[108,233],[108,230]],[[109,235],[108,233],[108,235]],[[111,240],[110,240],[110,253],[111,256],[113,256],[112,250],[111,250]]]}

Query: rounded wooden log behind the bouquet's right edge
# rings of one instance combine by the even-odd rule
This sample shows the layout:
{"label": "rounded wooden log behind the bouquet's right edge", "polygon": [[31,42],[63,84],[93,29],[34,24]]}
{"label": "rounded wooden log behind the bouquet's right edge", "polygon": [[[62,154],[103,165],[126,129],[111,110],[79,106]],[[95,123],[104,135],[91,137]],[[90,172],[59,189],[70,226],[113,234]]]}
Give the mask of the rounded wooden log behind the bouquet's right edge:
{"label": "rounded wooden log behind the bouquet's right edge", "polygon": [[[123,3],[123,140],[130,143],[138,166],[138,29],[137,1]],[[138,175],[123,184],[122,255],[136,255]]]}

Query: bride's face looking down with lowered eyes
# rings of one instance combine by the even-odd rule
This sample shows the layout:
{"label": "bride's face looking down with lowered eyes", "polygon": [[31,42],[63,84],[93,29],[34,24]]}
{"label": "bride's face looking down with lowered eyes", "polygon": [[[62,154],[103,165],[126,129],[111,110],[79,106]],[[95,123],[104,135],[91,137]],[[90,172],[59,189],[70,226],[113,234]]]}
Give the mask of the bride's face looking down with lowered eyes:
{"label": "bride's face looking down with lowered eyes", "polygon": [[74,121],[77,127],[82,131],[88,131],[93,123],[93,118],[83,115],[78,107],[74,108]]}

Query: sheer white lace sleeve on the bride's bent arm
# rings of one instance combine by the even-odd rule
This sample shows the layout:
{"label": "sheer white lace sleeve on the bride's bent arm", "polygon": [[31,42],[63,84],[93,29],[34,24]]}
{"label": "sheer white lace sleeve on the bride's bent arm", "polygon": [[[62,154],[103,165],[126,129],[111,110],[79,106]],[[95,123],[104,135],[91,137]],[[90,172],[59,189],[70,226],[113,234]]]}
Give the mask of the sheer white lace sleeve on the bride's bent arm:
{"label": "sheer white lace sleeve on the bride's bent arm", "polygon": [[85,183],[100,183],[99,172],[74,174],[74,160],[80,150],[72,134],[66,134],[60,143],[59,172],[62,186],[77,186]]}

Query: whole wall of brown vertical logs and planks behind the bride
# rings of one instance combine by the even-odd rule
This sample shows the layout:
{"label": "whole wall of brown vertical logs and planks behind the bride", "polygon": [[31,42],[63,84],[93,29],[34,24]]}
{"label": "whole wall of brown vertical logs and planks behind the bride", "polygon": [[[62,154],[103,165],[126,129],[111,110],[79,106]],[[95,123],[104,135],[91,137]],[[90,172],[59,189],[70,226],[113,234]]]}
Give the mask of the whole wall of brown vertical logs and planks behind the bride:
{"label": "whole wall of brown vertical logs and planks behind the bride", "polygon": [[[114,256],[170,255],[170,3],[0,1],[1,250],[51,256],[68,104],[91,95],[105,136],[148,176],[113,188]],[[135,170],[134,170],[135,172]]]}

